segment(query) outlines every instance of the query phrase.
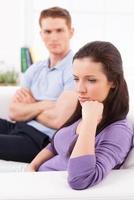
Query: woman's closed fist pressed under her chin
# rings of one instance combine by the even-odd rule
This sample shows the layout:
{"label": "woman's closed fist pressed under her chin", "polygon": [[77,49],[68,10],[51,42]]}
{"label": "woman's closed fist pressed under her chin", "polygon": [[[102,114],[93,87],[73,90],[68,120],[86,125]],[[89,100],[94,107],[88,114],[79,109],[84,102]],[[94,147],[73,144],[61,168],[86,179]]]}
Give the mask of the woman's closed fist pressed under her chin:
{"label": "woman's closed fist pressed under her chin", "polygon": [[86,121],[93,119],[99,123],[102,118],[103,107],[103,104],[98,101],[85,101],[82,104],[82,119]]}

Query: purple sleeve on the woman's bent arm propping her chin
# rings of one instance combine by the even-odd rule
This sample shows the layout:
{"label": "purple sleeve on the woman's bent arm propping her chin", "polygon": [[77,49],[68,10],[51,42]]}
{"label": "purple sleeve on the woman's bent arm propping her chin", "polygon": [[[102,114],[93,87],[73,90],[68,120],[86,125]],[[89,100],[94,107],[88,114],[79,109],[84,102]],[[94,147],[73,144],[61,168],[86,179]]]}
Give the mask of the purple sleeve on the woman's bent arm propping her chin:
{"label": "purple sleeve on the woman's bent arm propping her chin", "polygon": [[132,131],[123,127],[113,126],[98,136],[95,155],[69,160],[68,182],[73,189],[82,190],[99,183],[121,165],[132,144]]}

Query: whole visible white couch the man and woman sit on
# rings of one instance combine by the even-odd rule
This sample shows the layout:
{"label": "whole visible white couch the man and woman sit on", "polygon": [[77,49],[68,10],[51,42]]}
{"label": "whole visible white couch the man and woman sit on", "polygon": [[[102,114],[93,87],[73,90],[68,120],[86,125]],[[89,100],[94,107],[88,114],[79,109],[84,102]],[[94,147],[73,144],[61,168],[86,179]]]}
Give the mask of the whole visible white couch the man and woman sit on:
{"label": "whole visible white couch the man and woman sit on", "polygon": [[[0,117],[8,118],[9,103],[17,89],[0,87]],[[133,113],[131,106],[128,117],[134,124]],[[22,173],[25,166],[0,160],[0,200],[134,200],[133,148],[120,170],[112,170],[100,184],[83,191],[69,187],[65,171]]]}

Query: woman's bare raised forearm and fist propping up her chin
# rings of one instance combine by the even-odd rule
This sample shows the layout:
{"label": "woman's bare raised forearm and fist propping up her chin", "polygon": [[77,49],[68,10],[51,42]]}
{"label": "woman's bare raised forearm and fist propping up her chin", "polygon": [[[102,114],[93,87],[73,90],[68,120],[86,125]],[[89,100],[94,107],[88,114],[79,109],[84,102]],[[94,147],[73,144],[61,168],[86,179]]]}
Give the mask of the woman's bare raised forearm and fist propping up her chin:
{"label": "woman's bare raised forearm and fist propping up her chin", "polygon": [[82,105],[82,121],[77,130],[79,136],[71,158],[95,154],[96,128],[102,112],[103,104],[97,101],[87,101]]}

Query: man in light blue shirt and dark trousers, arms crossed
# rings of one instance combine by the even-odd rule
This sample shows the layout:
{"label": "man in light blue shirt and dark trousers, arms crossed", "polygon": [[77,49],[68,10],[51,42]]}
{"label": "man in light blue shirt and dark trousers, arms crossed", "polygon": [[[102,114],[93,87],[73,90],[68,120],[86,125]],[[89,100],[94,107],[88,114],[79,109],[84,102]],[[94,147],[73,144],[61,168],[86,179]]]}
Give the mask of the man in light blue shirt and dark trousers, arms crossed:
{"label": "man in light blue shirt and dark trousers, arms crossed", "polygon": [[10,106],[10,118],[0,119],[0,159],[30,162],[75,110],[71,17],[53,7],[41,12],[41,37],[49,59],[33,64],[24,75]]}

